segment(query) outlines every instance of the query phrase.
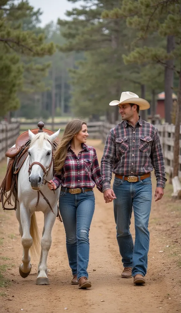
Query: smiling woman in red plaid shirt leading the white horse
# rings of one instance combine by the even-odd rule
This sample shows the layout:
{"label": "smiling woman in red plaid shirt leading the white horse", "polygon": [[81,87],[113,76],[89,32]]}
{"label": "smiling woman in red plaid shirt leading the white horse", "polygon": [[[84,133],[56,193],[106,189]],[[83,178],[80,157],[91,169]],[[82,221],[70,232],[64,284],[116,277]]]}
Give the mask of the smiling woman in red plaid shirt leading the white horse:
{"label": "smiling woman in red plaid shirt leading the white horse", "polygon": [[71,284],[79,284],[79,288],[91,287],[87,267],[89,229],[95,208],[95,184],[102,192],[96,150],[85,144],[88,136],[85,122],[74,119],[67,124],[54,156],[56,174],[48,185],[51,190],[61,187],[59,210],[73,275]]}

